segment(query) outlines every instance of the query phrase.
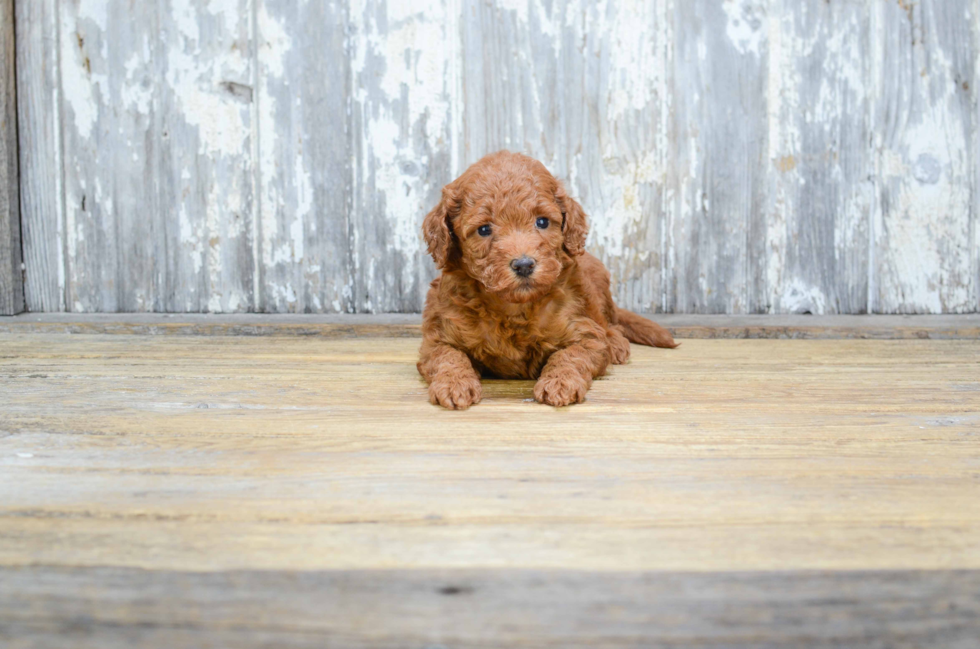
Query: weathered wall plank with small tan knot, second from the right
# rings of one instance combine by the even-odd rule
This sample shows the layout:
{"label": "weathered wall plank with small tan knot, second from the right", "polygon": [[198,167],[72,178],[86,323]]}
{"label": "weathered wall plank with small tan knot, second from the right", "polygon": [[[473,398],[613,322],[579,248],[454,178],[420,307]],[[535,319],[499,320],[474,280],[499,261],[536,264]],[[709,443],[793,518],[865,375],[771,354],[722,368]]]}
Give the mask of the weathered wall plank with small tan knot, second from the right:
{"label": "weathered wall plank with small tan knot, second from the right", "polygon": [[767,308],[864,313],[875,203],[868,6],[769,12]]}

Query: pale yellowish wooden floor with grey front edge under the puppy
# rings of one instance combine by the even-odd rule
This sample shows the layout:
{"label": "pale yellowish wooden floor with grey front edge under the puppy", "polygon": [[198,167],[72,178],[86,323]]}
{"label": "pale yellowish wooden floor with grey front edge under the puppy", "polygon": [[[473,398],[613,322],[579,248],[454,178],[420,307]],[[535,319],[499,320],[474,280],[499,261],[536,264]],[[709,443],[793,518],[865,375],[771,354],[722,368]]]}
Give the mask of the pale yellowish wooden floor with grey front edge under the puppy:
{"label": "pale yellowish wooden floor with grey front edge under the puppy", "polygon": [[980,342],[0,334],[0,646],[980,646]]}

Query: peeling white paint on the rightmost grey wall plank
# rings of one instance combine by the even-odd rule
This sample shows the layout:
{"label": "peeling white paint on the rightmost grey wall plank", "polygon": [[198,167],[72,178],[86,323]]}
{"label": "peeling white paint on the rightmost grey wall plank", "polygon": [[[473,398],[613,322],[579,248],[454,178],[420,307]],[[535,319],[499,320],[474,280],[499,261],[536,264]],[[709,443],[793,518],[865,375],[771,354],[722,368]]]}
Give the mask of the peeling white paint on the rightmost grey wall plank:
{"label": "peeling white paint on the rightmost grey wall plank", "polygon": [[[963,120],[969,117],[959,109],[961,80],[945,50],[951,44],[940,42],[936,24],[919,24],[919,11],[911,14],[911,26],[905,24],[910,16],[894,7],[879,8],[875,16],[885,29],[922,32],[896,58],[875,62],[875,95],[896,102],[882,105],[904,120],[898,129],[883,123],[875,130],[880,182],[888,198],[873,222],[875,309],[975,311],[968,217],[975,151],[963,137]],[[895,97],[886,96],[893,82],[886,66],[907,75]]]}

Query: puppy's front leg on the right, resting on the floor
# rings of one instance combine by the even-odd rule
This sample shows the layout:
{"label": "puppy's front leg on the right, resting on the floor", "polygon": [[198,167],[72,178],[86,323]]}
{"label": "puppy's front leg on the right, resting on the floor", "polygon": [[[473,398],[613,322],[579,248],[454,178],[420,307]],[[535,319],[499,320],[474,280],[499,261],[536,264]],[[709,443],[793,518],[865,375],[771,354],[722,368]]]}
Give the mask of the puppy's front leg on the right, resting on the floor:
{"label": "puppy's front leg on the right, resting on the floor", "polygon": [[541,371],[534,398],[558,407],[582,403],[592,379],[602,376],[608,365],[608,348],[598,340],[583,340],[561,349],[551,355]]}

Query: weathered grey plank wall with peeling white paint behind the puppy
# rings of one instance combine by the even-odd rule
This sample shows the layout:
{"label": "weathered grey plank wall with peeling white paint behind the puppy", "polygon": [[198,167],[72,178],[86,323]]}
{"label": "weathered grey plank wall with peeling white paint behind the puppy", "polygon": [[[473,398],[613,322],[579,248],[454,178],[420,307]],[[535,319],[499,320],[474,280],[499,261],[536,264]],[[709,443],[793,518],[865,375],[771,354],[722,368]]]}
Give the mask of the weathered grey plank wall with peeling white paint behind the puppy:
{"label": "weathered grey plank wall with peeling white paint behind the puppy", "polygon": [[501,148],[640,311],[980,304],[980,0],[17,3],[35,311],[418,311]]}

